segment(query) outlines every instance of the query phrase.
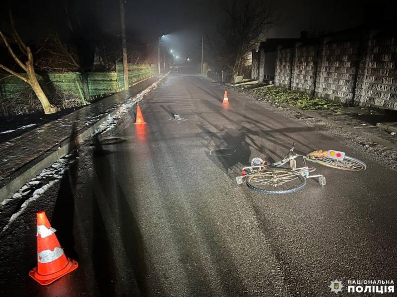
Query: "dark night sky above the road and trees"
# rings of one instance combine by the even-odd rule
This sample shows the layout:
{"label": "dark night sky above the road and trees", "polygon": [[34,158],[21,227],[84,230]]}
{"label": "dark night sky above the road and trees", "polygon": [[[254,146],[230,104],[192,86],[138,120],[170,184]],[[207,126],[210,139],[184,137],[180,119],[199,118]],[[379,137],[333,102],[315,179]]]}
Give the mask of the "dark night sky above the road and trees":
{"label": "dark night sky above the road and trees", "polygon": [[[78,3],[79,13],[90,23],[90,32],[120,32],[118,0],[21,0],[1,1],[0,26],[8,31],[9,7],[24,39],[45,37],[57,31],[67,35],[64,3]],[[126,0],[126,26],[130,39],[138,43],[155,42],[168,34],[165,42],[181,54],[199,57],[201,36],[222,22],[222,0]],[[273,0],[276,26],[269,38],[299,37],[300,31],[332,32],[392,20],[393,1]],[[82,12],[84,11],[84,12]],[[69,13],[71,13],[69,11]],[[82,20],[84,21],[84,20]]]}

